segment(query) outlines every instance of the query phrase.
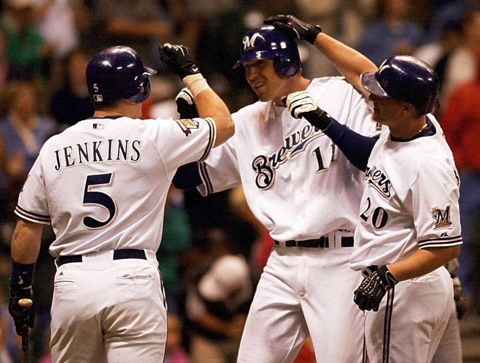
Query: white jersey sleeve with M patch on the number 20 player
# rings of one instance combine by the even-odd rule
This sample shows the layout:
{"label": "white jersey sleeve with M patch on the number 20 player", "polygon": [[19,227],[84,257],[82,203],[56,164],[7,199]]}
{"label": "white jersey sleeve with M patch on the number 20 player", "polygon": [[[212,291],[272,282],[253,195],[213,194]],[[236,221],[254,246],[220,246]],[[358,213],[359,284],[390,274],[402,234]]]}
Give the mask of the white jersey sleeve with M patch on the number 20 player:
{"label": "white jersey sleeve with M patch on the number 20 player", "polygon": [[418,248],[461,244],[459,192],[454,167],[430,159],[422,162],[418,169],[417,178],[410,187]]}

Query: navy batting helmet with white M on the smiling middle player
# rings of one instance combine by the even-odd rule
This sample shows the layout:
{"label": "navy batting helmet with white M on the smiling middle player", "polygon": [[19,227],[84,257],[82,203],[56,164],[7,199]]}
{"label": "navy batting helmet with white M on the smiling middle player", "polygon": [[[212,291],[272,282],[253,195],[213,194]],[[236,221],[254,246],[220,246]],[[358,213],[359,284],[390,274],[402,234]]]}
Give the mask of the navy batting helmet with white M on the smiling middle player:
{"label": "navy batting helmet with white M on the smiling middle player", "polygon": [[295,40],[272,26],[265,25],[245,33],[240,59],[233,68],[256,59],[271,59],[278,74],[292,77],[300,69],[300,55]]}

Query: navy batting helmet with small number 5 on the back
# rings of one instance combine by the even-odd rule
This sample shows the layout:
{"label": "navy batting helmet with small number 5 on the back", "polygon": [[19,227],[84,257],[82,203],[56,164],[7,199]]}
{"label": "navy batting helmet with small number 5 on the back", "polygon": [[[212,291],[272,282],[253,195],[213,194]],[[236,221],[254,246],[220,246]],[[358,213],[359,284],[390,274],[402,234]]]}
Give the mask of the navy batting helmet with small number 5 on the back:
{"label": "navy batting helmet with small number 5 on the back", "polygon": [[129,47],[104,49],[86,67],[90,100],[94,104],[121,99],[143,102],[150,94],[148,76],[155,73],[155,70],[143,67],[136,52]]}

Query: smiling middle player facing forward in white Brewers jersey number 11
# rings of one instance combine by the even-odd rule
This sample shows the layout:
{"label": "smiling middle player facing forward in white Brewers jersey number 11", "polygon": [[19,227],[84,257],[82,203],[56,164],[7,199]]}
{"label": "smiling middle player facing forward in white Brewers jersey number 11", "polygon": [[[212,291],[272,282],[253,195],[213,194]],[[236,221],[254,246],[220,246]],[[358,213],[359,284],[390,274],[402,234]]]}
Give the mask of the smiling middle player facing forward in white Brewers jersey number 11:
{"label": "smiling middle player facing forward in white Brewers jersey number 11", "polygon": [[[357,87],[360,72],[376,67],[318,26],[291,16],[267,22],[281,31],[266,25],[247,32],[235,65],[243,65],[258,102],[234,113],[235,135],[204,162],[179,169],[174,183],[199,184],[202,195],[242,184],[249,208],[275,240],[248,313],[239,362],[291,362],[308,335],[317,361],[360,362],[363,313],[351,291],[361,277],[348,261],[363,175],[323,133],[291,117],[281,98],[307,89],[341,123],[372,135],[366,99],[343,77],[305,79],[292,35],[322,51]],[[343,67],[347,60],[354,65]],[[186,105],[184,92],[178,97]]]}

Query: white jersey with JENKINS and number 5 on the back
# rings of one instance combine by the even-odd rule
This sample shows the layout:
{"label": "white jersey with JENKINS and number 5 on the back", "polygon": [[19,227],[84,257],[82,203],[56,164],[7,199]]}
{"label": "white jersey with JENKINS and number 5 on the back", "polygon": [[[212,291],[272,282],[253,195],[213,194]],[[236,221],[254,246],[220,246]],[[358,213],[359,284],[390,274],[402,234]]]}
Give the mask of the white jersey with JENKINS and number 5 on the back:
{"label": "white jersey with JENKINS and number 5 on the back", "polygon": [[136,248],[156,251],[176,169],[208,156],[211,119],[92,118],[40,150],[15,213],[51,223],[54,257]]}

